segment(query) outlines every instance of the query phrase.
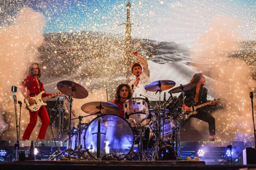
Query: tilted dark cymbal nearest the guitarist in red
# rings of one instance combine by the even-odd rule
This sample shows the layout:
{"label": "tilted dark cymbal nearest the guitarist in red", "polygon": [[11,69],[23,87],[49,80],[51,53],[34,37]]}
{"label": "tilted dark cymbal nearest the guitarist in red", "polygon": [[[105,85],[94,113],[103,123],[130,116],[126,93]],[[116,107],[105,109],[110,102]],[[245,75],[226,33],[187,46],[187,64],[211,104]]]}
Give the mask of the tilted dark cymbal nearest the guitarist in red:
{"label": "tilted dark cymbal nearest the guitarist in red", "polygon": [[60,81],[57,84],[57,88],[59,89],[59,91],[67,96],[72,94],[72,98],[83,99],[88,96],[88,91],[85,89],[85,87],[82,87],[81,85],[73,81]]}

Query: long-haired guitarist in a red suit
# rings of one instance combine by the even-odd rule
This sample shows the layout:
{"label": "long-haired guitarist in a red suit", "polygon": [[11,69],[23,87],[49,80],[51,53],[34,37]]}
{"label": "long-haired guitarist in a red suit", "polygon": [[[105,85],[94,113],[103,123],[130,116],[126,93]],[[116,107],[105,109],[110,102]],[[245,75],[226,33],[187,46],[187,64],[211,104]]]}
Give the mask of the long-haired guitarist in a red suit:
{"label": "long-haired guitarist in a red suit", "polygon": [[[20,91],[24,98],[28,98],[31,104],[35,104],[35,101],[31,98],[37,96],[41,91],[45,91],[43,88],[43,83],[39,80],[41,77],[41,69],[37,63],[33,63],[30,65],[28,69],[28,75],[22,81],[22,85],[20,87]],[[62,93],[60,93],[61,95]],[[42,97],[49,96],[51,94],[44,93]],[[41,106],[39,110],[36,112],[32,112],[29,110],[30,121],[24,131],[22,136],[22,140],[29,140],[30,135],[37,124],[37,115],[42,120],[42,125],[39,130],[39,134],[37,136],[37,141],[41,141],[46,136],[46,130],[50,123],[50,119],[45,106]]]}

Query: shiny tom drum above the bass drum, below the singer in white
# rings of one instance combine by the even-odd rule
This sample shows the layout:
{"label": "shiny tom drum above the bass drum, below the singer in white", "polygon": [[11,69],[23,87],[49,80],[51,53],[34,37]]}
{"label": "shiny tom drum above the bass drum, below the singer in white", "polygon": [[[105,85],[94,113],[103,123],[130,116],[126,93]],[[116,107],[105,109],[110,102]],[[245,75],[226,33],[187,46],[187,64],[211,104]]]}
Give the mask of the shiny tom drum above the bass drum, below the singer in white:
{"label": "shiny tom drum above the bass drum, below the singer in white", "polygon": [[146,126],[150,122],[149,104],[144,98],[130,98],[124,102],[124,113],[132,127],[136,125]]}

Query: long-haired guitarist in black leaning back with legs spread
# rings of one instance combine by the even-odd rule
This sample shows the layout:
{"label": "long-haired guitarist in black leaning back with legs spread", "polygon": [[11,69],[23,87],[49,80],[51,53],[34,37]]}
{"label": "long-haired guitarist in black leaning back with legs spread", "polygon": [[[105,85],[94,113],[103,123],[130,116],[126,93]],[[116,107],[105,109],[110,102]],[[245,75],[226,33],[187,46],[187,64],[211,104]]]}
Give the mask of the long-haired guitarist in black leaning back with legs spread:
{"label": "long-haired guitarist in black leaning back with legs spread", "polygon": [[[202,73],[197,73],[193,76],[189,84],[195,84],[196,87],[193,89],[187,90],[184,93],[184,109],[185,111],[191,111],[190,106],[192,105],[192,102],[195,100],[196,104],[202,104],[207,102],[207,93],[208,90],[204,87],[205,84],[205,78]],[[217,103],[217,100],[212,101],[213,104]],[[179,96],[179,105],[183,106],[182,101],[182,94]],[[205,121],[209,124],[209,132],[210,132],[210,140],[209,141],[215,141],[214,135],[215,135],[215,119],[210,115],[210,107],[204,106],[202,108],[198,108],[196,110],[198,113],[195,115],[191,115],[190,117],[195,117],[197,119],[200,119],[202,121]]]}

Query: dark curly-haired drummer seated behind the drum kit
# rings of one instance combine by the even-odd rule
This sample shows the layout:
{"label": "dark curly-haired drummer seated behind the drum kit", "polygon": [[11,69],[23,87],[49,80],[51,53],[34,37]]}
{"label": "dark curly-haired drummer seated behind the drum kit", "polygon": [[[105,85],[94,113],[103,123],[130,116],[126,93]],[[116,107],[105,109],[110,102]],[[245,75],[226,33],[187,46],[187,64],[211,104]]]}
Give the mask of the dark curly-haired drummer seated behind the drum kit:
{"label": "dark curly-haired drummer seated behind the drum kit", "polygon": [[120,84],[115,91],[114,100],[111,103],[116,104],[120,110],[118,115],[124,117],[124,102],[132,97],[131,88],[128,84]]}

